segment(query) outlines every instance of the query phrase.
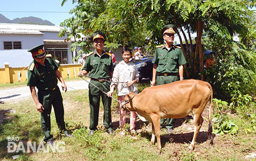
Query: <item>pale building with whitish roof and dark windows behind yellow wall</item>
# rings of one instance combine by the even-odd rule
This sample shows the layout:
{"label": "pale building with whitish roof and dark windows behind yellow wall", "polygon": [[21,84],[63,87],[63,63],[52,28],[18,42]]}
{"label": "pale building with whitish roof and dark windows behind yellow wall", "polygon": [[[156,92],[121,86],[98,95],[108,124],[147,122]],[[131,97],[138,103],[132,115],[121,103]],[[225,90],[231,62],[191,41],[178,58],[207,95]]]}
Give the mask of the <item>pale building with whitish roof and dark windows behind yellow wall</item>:
{"label": "pale building with whitish roof and dark windows behind yellow wall", "polygon": [[8,62],[10,67],[28,66],[33,60],[31,47],[44,44],[46,54],[52,54],[61,64],[73,63],[71,42],[58,37],[59,26],[0,23],[0,67]]}

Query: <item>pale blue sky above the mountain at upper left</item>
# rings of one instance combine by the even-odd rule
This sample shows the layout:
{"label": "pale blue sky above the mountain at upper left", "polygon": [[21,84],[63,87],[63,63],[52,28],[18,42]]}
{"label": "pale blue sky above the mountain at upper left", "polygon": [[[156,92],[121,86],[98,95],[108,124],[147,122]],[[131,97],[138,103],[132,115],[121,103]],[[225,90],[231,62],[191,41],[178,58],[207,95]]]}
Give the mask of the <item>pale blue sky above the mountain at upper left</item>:
{"label": "pale blue sky above the mountain at upper left", "polygon": [[61,3],[62,0],[0,0],[0,14],[10,20],[34,16],[59,25],[72,16],[69,11],[76,6],[72,0],[67,0],[63,6]]}

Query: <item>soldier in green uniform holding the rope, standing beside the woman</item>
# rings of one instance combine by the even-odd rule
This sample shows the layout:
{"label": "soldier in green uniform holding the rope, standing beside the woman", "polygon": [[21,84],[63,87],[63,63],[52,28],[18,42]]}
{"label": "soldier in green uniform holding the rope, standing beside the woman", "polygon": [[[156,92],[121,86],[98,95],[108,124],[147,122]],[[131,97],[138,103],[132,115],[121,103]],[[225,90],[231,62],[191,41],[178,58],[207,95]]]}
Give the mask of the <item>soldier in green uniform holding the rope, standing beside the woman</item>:
{"label": "soldier in green uniform holding the rope, standing beside the woman", "polygon": [[[106,37],[104,33],[96,31],[92,34],[92,42],[95,50],[90,54],[87,54],[85,65],[81,72],[78,72],[78,77],[83,77],[90,72],[90,77],[98,79],[109,80],[114,71],[111,54],[103,50],[104,42]],[[91,79],[91,83],[99,87],[102,91],[108,92],[110,87],[110,82]],[[99,119],[99,108],[100,108],[100,97],[102,98],[102,103],[104,106],[104,126],[109,132],[109,134],[114,134],[113,125],[111,121],[111,98],[106,94],[102,93],[92,84],[89,84],[89,101],[90,101],[90,132],[89,135],[92,135],[93,132],[97,129],[98,119]]]}

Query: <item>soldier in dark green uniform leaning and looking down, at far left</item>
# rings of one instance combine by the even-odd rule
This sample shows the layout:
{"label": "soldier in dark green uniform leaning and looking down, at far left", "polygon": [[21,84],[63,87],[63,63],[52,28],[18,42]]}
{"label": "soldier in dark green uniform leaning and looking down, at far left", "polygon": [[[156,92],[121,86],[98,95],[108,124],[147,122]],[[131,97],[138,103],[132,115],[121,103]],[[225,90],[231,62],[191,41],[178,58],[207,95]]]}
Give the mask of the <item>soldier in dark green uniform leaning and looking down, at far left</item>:
{"label": "soldier in dark green uniform leaning and looking down, at far left", "polygon": [[[36,103],[36,108],[41,112],[41,125],[45,135],[44,141],[47,144],[54,145],[52,140],[50,114],[52,106],[54,108],[55,117],[59,129],[67,137],[72,135],[66,131],[64,123],[64,108],[62,103],[62,95],[57,86],[57,78],[62,82],[62,89],[66,92],[66,84],[58,70],[57,64],[51,55],[45,54],[44,45],[38,45],[28,52],[32,53],[33,61],[28,68],[28,86],[30,87],[31,96]],[[36,95],[36,88],[38,93]]]}

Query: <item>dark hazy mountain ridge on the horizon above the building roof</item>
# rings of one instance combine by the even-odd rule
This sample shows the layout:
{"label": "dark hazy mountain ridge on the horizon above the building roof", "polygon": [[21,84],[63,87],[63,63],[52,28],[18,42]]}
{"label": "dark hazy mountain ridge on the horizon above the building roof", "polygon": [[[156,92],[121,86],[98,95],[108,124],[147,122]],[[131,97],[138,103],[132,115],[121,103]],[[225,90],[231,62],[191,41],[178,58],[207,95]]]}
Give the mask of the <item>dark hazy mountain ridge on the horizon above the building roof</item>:
{"label": "dark hazy mountain ridge on the horizon above the building roof", "polygon": [[9,20],[2,14],[0,14],[0,23],[22,23],[22,24],[50,25],[50,26],[55,25],[55,24],[51,23],[50,21],[43,20],[43,19],[33,17],[33,16]]}

